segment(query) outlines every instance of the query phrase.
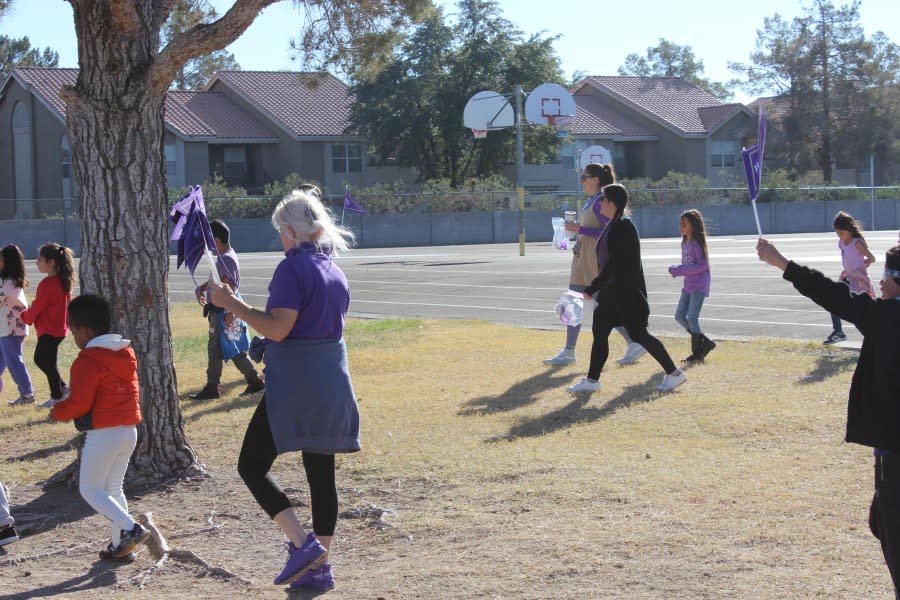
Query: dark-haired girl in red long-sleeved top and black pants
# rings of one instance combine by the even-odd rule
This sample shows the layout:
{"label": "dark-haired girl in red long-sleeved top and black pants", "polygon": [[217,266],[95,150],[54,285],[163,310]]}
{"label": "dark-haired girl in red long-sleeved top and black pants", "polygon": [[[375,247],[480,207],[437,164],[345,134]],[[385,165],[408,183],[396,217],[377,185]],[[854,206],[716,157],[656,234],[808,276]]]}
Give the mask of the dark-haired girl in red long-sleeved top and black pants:
{"label": "dark-haired girl in red long-sleeved top and black pants", "polygon": [[75,259],[71,250],[50,242],[38,251],[37,267],[47,276],[38,284],[34,301],[22,311],[21,319],[37,330],[34,364],[44,372],[50,385],[50,399],[40,406],[52,408],[69,395],[69,386],[59,374],[56,358],[60,343],[69,333],[66,307],[75,285]]}

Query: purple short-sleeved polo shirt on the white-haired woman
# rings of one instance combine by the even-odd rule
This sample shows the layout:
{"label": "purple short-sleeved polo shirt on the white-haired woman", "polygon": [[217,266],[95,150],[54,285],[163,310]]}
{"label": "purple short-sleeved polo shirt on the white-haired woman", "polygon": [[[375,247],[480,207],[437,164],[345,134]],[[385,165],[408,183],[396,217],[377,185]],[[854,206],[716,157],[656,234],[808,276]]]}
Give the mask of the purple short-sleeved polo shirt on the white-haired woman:
{"label": "purple short-sleeved polo shirt on the white-haired woman", "polygon": [[266,312],[298,311],[287,337],[341,339],[349,306],[347,277],[328,254],[306,242],[284,253],[269,283]]}

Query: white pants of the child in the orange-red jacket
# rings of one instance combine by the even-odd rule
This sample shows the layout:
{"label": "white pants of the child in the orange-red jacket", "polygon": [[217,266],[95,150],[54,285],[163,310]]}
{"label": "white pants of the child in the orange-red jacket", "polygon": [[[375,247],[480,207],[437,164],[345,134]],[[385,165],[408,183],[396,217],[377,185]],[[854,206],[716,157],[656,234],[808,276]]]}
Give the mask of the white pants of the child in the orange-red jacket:
{"label": "white pants of the child in the orange-red jacket", "polygon": [[136,445],[134,425],[104,427],[87,432],[81,453],[78,491],[91,508],[111,521],[113,546],[118,545],[120,532],[135,524],[122,482]]}

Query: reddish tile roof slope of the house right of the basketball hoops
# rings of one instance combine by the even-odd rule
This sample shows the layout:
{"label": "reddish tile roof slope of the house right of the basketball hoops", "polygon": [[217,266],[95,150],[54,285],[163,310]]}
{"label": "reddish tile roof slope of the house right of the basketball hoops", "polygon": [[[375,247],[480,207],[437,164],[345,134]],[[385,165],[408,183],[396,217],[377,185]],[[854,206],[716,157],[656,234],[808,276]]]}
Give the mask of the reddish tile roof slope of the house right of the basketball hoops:
{"label": "reddish tile roof slope of the house right of the basketball hoops", "polygon": [[591,76],[583,82],[682,134],[708,133],[700,109],[722,105],[718,98],[680,77]]}

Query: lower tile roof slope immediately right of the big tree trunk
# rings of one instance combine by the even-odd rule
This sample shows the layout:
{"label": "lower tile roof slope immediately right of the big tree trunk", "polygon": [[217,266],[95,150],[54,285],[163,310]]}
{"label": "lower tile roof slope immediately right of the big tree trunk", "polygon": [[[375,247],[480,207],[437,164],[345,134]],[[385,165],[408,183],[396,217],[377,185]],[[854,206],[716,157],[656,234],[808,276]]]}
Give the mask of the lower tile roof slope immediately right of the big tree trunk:
{"label": "lower tile roof slope immediately right of the big tree trunk", "polygon": [[166,123],[185,137],[278,139],[228,96],[216,92],[170,91],[166,95]]}

